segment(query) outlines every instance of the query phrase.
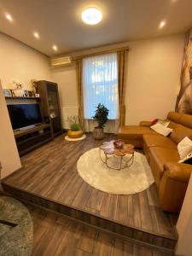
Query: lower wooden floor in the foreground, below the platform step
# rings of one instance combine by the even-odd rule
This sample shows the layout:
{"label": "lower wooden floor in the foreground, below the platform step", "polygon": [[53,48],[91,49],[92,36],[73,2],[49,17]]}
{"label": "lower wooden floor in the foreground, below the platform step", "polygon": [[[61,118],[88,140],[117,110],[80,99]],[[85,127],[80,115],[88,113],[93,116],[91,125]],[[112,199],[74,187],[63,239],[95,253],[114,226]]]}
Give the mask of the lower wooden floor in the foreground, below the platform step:
{"label": "lower wooden floor in the foreground, below the platform step", "polygon": [[172,255],[124,241],[54,212],[47,212],[29,205],[27,207],[31,212],[34,225],[33,256]]}

